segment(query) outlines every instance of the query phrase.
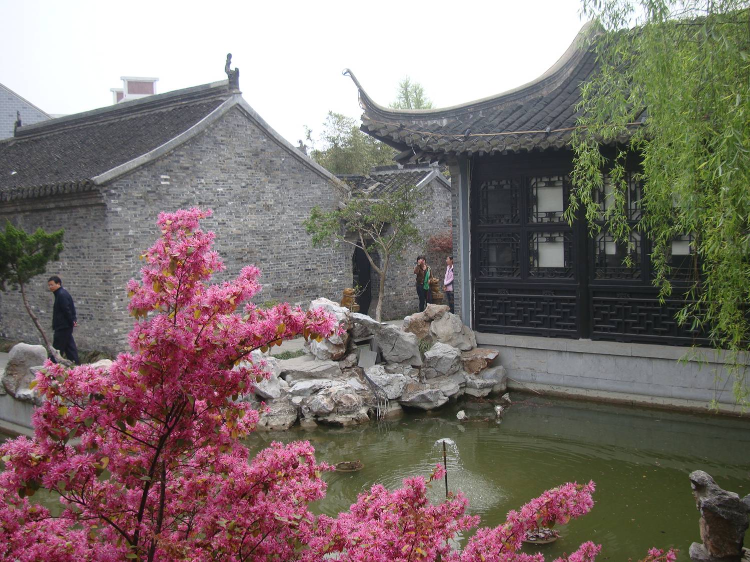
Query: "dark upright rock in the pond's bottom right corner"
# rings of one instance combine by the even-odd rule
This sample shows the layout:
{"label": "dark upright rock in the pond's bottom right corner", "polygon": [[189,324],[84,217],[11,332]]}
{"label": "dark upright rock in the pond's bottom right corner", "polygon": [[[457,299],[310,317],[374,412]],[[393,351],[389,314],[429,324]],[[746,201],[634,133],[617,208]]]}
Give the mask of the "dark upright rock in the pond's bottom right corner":
{"label": "dark upright rock in the pond's bottom right corner", "polygon": [[690,545],[694,562],[750,562],[750,550],[742,548],[748,528],[750,494],[740,499],[718,487],[703,471],[690,473],[690,485],[700,511],[700,539]]}

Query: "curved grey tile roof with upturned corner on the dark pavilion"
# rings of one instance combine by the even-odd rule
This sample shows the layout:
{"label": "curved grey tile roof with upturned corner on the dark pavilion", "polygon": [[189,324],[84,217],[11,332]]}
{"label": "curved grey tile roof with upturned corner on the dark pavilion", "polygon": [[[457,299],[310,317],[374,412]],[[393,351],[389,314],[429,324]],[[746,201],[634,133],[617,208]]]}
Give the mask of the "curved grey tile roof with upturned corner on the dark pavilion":
{"label": "curved grey tile roof with upturned corner on the dark pavilion", "polygon": [[514,90],[446,109],[398,110],[375,103],[359,81],[361,129],[402,151],[397,159],[443,161],[458,154],[564,148],[579,116],[580,85],[596,68],[584,25],[544,75]]}

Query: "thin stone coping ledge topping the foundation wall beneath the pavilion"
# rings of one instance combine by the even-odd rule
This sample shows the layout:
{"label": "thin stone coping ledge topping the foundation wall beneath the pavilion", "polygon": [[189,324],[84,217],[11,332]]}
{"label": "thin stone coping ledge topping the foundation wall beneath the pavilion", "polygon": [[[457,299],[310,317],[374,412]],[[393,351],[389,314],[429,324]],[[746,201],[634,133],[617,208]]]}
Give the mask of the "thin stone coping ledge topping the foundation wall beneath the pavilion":
{"label": "thin stone coping ledge topping the foundation wall beneath the pavilion", "polygon": [[[690,362],[728,363],[727,351],[702,347],[677,347],[646,343],[601,342],[592,339],[544,338],[538,336],[513,336],[502,333],[475,332],[477,345],[496,345],[550,351],[570,351],[598,355],[625,357],[650,357],[652,359],[686,360]],[[747,354],[742,362],[748,363]]]}

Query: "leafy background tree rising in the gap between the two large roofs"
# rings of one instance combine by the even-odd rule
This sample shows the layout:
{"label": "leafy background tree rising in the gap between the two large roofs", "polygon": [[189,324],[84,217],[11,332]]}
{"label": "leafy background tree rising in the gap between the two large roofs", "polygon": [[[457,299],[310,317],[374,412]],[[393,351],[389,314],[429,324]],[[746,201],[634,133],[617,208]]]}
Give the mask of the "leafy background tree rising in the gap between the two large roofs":
{"label": "leafy background tree rising in the gap between the two large roofs", "polygon": [[374,166],[392,164],[396,152],[362,133],[354,119],[341,113],[329,112],[320,140],[326,148],[313,149],[311,157],[332,174],[368,174]]}

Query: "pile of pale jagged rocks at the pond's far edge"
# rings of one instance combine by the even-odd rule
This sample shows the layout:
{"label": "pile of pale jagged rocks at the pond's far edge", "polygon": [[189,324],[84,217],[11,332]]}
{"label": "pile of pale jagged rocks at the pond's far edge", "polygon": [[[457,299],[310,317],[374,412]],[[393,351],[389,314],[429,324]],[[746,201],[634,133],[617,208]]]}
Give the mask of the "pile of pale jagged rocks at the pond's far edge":
{"label": "pile of pale jagged rocks at the pond's far edge", "polygon": [[[306,343],[305,356],[295,359],[254,352],[251,361],[265,362],[271,371],[271,378],[245,397],[259,407],[266,402],[262,429],[288,429],[298,420],[304,427],[348,426],[398,415],[404,407],[434,410],[463,394],[505,392],[504,369],[489,366],[497,351],[477,348],[472,330],[448,306],[430,304],[407,316],[403,330],[331,300],[314,300],[311,307],[334,314],[346,331]],[[356,342],[363,340],[379,350],[380,363],[359,360]],[[424,356],[421,342],[429,347]]]}

